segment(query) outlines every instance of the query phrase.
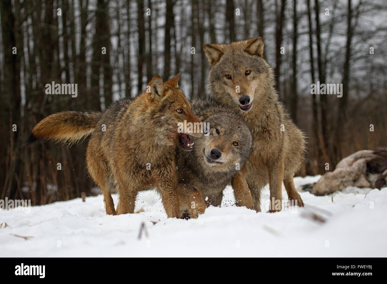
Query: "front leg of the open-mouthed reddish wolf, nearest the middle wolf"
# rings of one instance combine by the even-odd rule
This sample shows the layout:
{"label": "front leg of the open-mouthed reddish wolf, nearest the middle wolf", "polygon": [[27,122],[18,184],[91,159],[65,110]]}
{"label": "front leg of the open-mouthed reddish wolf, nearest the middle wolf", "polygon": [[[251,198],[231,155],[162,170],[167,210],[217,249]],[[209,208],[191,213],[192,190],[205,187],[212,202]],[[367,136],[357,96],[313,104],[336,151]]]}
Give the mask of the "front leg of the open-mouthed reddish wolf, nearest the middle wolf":
{"label": "front leg of the open-mouthed reddish wolf, nearest the middle wolf", "polygon": [[176,192],[177,173],[173,163],[154,175],[158,180],[158,191],[161,194],[161,201],[168,218],[180,218],[179,197]]}

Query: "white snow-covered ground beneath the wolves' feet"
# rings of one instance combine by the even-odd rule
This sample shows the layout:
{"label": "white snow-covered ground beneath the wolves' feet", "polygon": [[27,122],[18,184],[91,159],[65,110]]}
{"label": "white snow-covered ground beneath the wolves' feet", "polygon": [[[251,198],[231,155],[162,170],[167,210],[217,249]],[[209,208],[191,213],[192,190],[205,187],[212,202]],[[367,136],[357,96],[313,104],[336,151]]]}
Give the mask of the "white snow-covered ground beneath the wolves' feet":
{"label": "white snow-covered ground beneath the wolves' feet", "polygon": [[[318,179],[297,177],[295,184]],[[31,207],[29,213],[3,210],[0,223],[8,226],[0,229],[0,256],[387,256],[387,188],[349,187],[322,197],[302,192],[305,208],[279,213],[236,207],[232,189],[225,194],[222,207],[209,207],[190,220],[166,218],[155,190],[140,193],[136,210],[143,211],[138,214],[106,216],[102,195]],[[269,199],[269,190],[262,196]],[[142,224],[148,236],[143,230],[139,239]]]}

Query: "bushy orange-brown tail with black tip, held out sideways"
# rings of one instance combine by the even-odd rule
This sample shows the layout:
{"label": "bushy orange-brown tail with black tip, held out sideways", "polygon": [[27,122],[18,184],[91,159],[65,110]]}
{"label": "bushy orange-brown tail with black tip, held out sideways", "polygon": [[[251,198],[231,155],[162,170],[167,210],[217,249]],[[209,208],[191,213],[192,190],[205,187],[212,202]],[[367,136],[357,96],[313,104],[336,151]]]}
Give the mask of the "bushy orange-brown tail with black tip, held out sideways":
{"label": "bushy orange-brown tail with black tip, held out sideways", "polygon": [[94,131],[101,116],[101,112],[94,111],[63,111],[51,114],[32,129],[27,146],[46,140],[75,143]]}

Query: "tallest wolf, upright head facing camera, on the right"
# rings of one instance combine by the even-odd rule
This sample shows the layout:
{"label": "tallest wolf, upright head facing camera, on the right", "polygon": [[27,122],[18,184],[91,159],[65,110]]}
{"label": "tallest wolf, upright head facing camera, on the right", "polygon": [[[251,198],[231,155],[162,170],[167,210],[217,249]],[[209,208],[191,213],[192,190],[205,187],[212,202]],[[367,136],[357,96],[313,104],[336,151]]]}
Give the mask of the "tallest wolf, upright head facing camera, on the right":
{"label": "tallest wolf, upright head facing camera, on the right", "polygon": [[210,95],[240,111],[251,128],[253,152],[240,173],[247,180],[255,210],[260,211],[260,190],[268,183],[270,212],[281,210],[282,182],[289,199],[303,206],[293,176],[303,162],[305,136],[278,100],[273,71],[263,58],[263,39],[205,44],[203,49],[211,65]]}

